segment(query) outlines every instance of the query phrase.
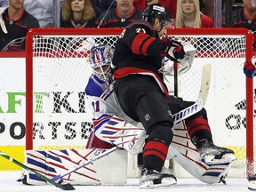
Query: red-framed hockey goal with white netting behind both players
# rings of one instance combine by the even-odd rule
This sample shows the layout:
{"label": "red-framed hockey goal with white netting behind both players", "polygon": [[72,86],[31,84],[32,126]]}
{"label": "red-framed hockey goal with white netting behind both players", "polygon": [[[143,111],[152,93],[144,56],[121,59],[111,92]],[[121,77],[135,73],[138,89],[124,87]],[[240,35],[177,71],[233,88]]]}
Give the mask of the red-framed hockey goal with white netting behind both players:
{"label": "red-framed hockey goal with white netting behind both players", "polygon": [[[35,28],[26,36],[26,149],[84,148],[92,131],[84,87],[92,74],[92,44],[115,48],[121,28]],[[201,69],[212,64],[207,110],[215,144],[232,148],[235,169],[253,172],[253,80],[244,76],[252,58],[252,32],[244,28],[177,28],[168,36],[196,47],[179,96],[196,100]],[[172,76],[166,84],[173,89]],[[97,103],[95,103],[97,108]],[[243,175],[240,177],[244,177]]]}

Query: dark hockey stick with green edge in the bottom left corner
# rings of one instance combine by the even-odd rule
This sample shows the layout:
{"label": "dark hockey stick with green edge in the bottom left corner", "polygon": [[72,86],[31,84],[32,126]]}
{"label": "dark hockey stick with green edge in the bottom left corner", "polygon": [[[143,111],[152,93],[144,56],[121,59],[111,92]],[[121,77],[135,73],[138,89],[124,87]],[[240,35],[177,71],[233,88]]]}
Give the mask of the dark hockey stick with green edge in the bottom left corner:
{"label": "dark hockey stick with green edge in the bottom left corner", "polygon": [[8,156],[6,154],[4,154],[3,152],[0,151],[0,156],[3,156],[4,158],[6,158],[7,160],[11,161],[13,164],[17,164],[20,167],[22,167],[23,169],[27,170],[30,173],[35,174],[38,178],[47,181],[48,183],[54,185],[57,188],[61,188],[63,190],[75,190],[76,188],[74,188],[70,183],[67,184],[60,184],[57,182],[54,182],[53,180],[50,180],[49,178],[45,177],[43,174],[36,172],[32,169],[30,169],[27,165],[25,164],[21,164],[19,161],[13,159],[11,156]]}

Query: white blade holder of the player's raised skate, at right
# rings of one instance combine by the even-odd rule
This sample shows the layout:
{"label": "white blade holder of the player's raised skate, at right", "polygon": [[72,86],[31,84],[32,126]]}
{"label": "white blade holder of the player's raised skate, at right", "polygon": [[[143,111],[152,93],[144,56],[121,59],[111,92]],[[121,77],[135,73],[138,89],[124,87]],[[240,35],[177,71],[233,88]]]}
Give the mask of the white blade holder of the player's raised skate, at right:
{"label": "white blade holder of the player's raised skate, at right", "polygon": [[233,153],[229,154],[224,154],[221,159],[215,159],[214,155],[206,155],[204,156],[204,161],[205,164],[227,164],[236,161],[236,156]]}

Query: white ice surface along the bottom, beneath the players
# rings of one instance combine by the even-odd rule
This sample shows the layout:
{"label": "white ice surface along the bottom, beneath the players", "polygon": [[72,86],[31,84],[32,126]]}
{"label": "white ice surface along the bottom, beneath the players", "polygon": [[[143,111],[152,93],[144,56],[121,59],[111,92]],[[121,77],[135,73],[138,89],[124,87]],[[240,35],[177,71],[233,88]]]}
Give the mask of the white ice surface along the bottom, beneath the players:
{"label": "white ice surface along the bottom, beneath the players", "polygon": [[[17,182],[20,179],[20,172],[0,172],[0,191],[5,192],[47,192],[47,191],[62,191],[60,188],[56,188],[52,185],[48,186],[25,186],[20,182]],[[196,179],[179,179],[176,185],[168,188],[154,188],[154,189],[140,189],[137,179],[129,179],[128,185],[126,186],[75,186],[76,192],[207,192],[207,191],[216,191],[216,192],[243,192],[250,191],[247,189],[248,181],[245,179],[226,179],[227,185],[223,184],[214,184],[207,185],[203,182]],[[74,191],[75,192],[75,191]]]}

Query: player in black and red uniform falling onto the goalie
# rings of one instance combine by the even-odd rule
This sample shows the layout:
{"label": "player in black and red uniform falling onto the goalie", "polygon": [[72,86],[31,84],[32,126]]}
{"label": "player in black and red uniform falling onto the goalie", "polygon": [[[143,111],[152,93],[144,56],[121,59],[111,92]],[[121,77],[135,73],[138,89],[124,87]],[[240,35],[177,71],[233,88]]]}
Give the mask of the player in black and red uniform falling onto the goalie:
{"label": "player in black and red uniform falling onto the goalie", "polygon": [[[132,22],[119,36],[113,57],[114,90],[120,106],[126,115],[141,122],[148,134],[143,148],[141,188],[176,183],[174,175],[161,173],[172,143],[172,114],[194,103],[169,96],[159,72],[163,56],[180,60],[185,55],[180,42],[164,37],[172,26],[171,14],[163,5],[149,5],[143,12],[143,20]],[[236,159],[232,150],[213,144],[205,109],[185,123],[203,160],[209,160],[209,156],[211,161],[221,160],[223,156],[229,162]]]}

